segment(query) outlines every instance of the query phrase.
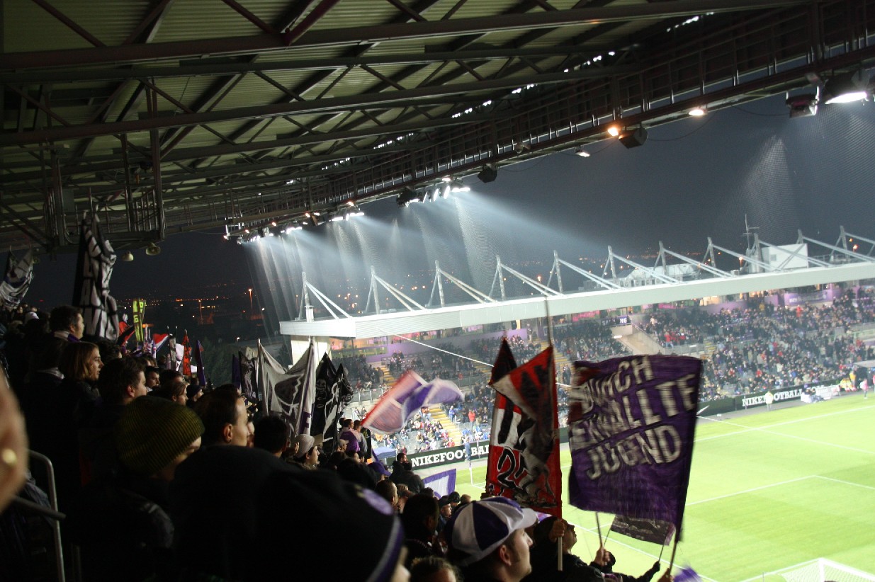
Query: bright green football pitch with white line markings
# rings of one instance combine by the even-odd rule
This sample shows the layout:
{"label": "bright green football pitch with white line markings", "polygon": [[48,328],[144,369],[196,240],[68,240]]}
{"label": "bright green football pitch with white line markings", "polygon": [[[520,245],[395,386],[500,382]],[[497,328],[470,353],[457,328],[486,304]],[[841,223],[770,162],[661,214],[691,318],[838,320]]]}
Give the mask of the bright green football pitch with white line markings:
{"label": "bright green football pitch with white line markings", "polygon": [[[564,500],[570,463],[563,445]],[[458,466],[456,489],[479,499],[485,475],[483,461]],[[598,549],[596,514],[566,502],[563,517],[576,526],[573,553],[589,561]],[[598,515],[603,536],[612,520]],[[662,549],[618,534],[606,548],[615,570],[633,576]],[[668,546],[663,571],[670,555]],[[700,419],[675,565],[704,580],[781,580],[767,573],[816,558],[875,575],[875,398]]]}

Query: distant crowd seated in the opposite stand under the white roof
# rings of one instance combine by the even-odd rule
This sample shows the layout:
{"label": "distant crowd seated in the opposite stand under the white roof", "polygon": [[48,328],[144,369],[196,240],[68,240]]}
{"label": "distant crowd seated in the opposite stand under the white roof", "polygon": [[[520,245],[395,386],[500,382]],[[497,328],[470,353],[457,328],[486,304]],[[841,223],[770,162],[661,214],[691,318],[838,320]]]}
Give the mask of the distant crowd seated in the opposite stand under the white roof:
{"label": "distant crowd seated in the opposite stand under the white roof", "polygon": [[[720,309],[714,314],[702,308],[662,309],[645,315],[641,328],[651,333],[663,348],[697,343],[703,349],[700,400],[708,401],[755,391],[837,382],[851,372],[855,362],[875,359],[875,346],[849,334],[851,326],[870,322],[875,322],[871,294],[847,291],[825,305],[776,308],[763,301],[748,308]],[[535,335],[529,330],[528,337]],[[706,340],[711,343],[710,352],[704,350]],[[518,363],[542,350],[541,344],[532,339],[527,342],[511,336],[509,341]],[[600,361],[631,353],[613,338],[609,326],[594,320],[556,326],[554,343],[557,354],[569,361]],[[474,339],[470,350],[462,352],[458,359],[489,361],[499,345],[499,338]],[[398,362],[405,361],[400,352],[396,355]],[[444,410],[451,423],[459,426],[463,441],[488,440],[494,395],[483,381],[483,371],[474,370],[472,376],[477,379],[463,390],[464,402],[445,405]],[[568,413],[570,381],[570,364],[557,366],[560,424]],[[875,381],[870,378],[870,383]],[[411,422],[400,433],[388,436],[386,442],[416,452],[448,446],[444,433],[434,433],[428,425],[423,431]]]}

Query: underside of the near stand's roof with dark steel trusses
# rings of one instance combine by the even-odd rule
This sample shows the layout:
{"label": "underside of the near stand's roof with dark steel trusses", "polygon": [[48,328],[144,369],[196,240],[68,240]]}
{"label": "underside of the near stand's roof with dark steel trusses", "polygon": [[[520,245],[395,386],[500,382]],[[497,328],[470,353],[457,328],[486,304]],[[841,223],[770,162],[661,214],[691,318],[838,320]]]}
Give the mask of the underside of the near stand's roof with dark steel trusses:
{"label": "underside of the near stand's roof with dark steel trusses", "polygon": [[604,140],[615,121],[804,101],[872,66],[871,8],[0,0],[0,246],[71,250],[84,211],[122,250],[240,236]]}

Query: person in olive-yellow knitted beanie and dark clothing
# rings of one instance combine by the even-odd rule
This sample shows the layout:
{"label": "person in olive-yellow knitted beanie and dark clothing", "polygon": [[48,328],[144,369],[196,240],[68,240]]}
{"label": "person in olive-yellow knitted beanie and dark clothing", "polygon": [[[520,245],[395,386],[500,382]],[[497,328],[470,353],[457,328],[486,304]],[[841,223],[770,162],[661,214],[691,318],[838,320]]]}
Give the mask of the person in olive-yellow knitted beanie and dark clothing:
{"label": "person in olive-yellow knitted beanie and dark clothing", "polygon": [[87,580],[142,580],[172,567],[168,485],[200,447],[204,426],[187,406],[135,398],[115,427],[121,468],[82,490],[69,516]]}

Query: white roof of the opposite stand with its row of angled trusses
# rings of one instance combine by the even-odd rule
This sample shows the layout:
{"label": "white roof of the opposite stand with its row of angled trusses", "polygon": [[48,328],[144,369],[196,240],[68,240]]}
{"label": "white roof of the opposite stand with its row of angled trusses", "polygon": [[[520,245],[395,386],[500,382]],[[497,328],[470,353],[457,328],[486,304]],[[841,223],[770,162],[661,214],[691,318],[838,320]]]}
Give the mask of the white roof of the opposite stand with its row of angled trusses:
{"label": "white roof of the opposite stand with its row of angled trusses", "polygon": [[[550,269],[547,285],[507,267],[501,262],[500,256],[496,256],[495,276],[489,294],[445,272],[435,261],[434,285],[428,307],[402,293],[395,285],[382,280],[377,276],[374,267],[371,267],[365,309],[361,315],[355,316],[346,313],[326,294],[318,291],[306,281],[306,274],[302,274],[304,294],[298,319],[295,322],[281,322],[280,329],[283,334],[290,336],[373,337],[387,333],[507,322],[548,314],[568,315],[594,309],[875,279],[875,257],[872,256],[875,253],[875,239],[845,232],[844,227],[835,245],[806,237],[801,231],[798,232],[794,244],[781,246],[763,241],[753,232],[748,234],[749,243],[745,253],[715,245],[709,238],[701,260],[671,251],[661,241],[654,267],[645,267],[620,256],[608,246],[608,256],[601,276],[560,259],[554,251],[553,267]],[[739,268],[727,271],[717,267],[717,253],[725,253],[727,257],[738,259]],[[624,274],[617,269],[617,262],[631,269]],[[594,285],[590,289],[579,288],[577,291],[566,292],[563,288],[561,267],[582,275]],[[507,276],[533,288],[535,294],[507,298]],[[550,287],[554,279],[557,289]],[[473,301],[448,307],[444,303],[444,280],[456,285],[471,296]],[[500,300],[493,296],[496,285],[500,289]],[[403,309],[381,308],[380,288],[394,297]],[[436,289],[439,307],[435,306]],[[325,308],[331,315],[330,318],[313,320],[311,296]],[[550,305],[549,310],[546,303]],[[331,323],[332,320],[342,320],[342,323]]]}

